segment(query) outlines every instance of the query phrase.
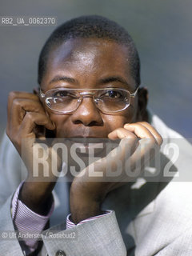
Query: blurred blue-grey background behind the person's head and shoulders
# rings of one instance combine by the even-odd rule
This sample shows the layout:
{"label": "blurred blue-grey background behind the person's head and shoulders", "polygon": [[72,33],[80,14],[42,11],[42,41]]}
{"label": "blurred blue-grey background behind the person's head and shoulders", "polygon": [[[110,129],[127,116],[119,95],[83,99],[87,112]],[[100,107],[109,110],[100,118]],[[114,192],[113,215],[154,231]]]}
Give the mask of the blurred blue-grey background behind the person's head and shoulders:
{"label": "blurred blue-grey background behind the person's head and shoulders", "polygon": [[[100,14],[126,27],[142,64],[150,109],[192,138],[192,1],[22,0],[0,1],[0,16],[55,16],[58,25],[83,14]],[[56,26],[0,26],[0,137],[11,90],[37,86],[38,54]]]}

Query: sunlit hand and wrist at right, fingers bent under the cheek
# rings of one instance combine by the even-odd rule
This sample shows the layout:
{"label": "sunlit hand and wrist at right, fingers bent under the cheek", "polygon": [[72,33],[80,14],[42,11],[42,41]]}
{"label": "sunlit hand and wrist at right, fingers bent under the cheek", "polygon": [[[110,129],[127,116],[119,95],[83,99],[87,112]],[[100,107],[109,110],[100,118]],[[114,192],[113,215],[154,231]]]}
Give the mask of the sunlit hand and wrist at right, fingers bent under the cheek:
{"label": "sunlit hand and wrist at right, fingers bent under the cheek", "polygon": [[[108,137],[112,140],[120,138],[119,146],[112,150],[102,160],[96,161],[74,178],[70,189],[70,211],[74,223],[101,214],[100,205],[110,190],[130,182],[142,173],[144,167],[154,157],[154,148],[160,149],[162,137],[147,122],[126,124],[111,132]],[[118,176],[107,178],[107,170],[117,170],[117,163],[121,162],[122,170]],[[129,168],[127,175],[126,168]],[[138,168],[137,168],[138,166]],[[100,171],[102,177],[90,176],[90,170]],[[136,174],[137,176],[133,175]]]}

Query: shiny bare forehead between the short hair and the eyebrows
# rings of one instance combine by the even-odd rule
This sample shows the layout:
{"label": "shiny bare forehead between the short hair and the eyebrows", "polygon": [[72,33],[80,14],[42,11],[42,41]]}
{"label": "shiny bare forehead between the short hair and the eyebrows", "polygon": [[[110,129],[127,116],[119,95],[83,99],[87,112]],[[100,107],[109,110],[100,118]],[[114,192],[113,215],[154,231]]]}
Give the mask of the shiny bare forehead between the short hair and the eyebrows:
{"label": "shiny bare forehead between the short hair and the eyebrows", "polygon": [[50,51],[42,86],[56,76],[65,75],[85,85],[96,85],[101,78],[117,76],[134,87],[129,62],[127,47],[117,42],[100,38],[70,39]]}

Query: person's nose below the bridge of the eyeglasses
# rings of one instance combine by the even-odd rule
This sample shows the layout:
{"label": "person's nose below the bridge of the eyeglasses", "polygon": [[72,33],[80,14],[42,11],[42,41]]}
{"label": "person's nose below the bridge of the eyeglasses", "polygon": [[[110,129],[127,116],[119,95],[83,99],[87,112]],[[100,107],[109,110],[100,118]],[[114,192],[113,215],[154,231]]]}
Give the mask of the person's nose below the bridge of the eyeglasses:
{"label": "person's nose below the bridge of the eyeglasses", "polygon": [[94,104],[92,97],[82,98],[78,109],[72,114],[74,124],[83,124],[84,126],[102,126],[102,116],[100,110]]}

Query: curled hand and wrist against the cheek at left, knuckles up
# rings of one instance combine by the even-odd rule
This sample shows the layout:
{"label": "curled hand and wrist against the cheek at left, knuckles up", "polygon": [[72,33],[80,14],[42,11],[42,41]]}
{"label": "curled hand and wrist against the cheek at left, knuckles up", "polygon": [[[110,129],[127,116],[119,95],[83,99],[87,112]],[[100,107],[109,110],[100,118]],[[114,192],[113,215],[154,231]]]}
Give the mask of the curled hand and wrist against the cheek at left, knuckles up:
{"label": "curled hand and wrist against the cheek at left, knuckles up", "polygon": [[[39,214],[44,213],[44,207],[47,201],[50,201],[55,180],[51,177],[48,182],[38,182],[38,178],[33,178],[32,146],[36,138],[45,139],[46,129],[54,130],[54,128],[54,123],[46,115],[37,95],[26,92],[9,94],[6,134],[18,150],[28,170],[28,178],[22,186],[21,200]],[[27,139],[22,145],[24,138]],[[25,157],[22,152],[25,152]],[[30,182],[27,182],[29,180]]]}

